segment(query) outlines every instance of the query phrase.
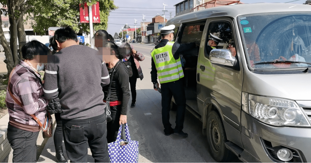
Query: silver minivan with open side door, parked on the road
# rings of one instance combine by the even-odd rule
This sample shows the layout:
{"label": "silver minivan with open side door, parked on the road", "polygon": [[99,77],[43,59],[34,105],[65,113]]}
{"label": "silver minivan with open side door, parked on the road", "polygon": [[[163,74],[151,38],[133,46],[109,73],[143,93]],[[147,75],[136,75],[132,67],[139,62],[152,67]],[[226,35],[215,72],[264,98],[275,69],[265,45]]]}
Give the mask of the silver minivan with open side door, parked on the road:
{"label": "silver minivan with open side door, parked on the road", "polygon": [[[310,5],[213,7],[171,24],[175,41],[200,43],[181,54],[187,109],[216,161],[311,162]],[[211,34],[223,41],[209,53]]]}

